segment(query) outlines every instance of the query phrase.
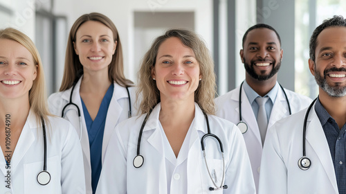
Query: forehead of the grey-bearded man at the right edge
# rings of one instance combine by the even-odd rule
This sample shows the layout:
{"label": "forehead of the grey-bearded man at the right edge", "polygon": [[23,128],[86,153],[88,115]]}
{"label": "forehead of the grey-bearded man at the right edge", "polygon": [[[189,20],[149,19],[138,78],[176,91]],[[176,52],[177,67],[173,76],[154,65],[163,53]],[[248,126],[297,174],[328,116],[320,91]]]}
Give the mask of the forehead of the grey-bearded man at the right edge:
{"label": "forehead of the grey-bearded man at the right edge", "polygon": [[344,26],[325,28],[317,37],[316,52],[320,48],[337,48],[338,46],[346,49],[346,27]]}

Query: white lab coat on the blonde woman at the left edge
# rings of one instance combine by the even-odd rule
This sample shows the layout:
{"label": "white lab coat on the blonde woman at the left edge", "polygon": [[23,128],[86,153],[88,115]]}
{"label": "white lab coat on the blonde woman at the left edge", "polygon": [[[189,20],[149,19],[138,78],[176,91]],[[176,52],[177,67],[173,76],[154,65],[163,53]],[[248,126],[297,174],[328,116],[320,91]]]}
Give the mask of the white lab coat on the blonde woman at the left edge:
{"label": "white lab coat on the blonde woman at the left edge", "polygon": [[[45,122],[46,168],[51,174],[51,182],[45,186],[37,182],[37,175],[44,166],[44,138],[41,121],[37,123],[35,114],[30,111],[8,169],[1,155],[0,193],[85,193],[85,182],[80,179],[84,175],[84,168],[78,136],[68,121],[53,116],[48,116],[48,119],[49,123]],[[8,176],[8,170],[10,182],[6,182],[8,178],[5,177]],[[6,187],[8,184],[10,188]]]}

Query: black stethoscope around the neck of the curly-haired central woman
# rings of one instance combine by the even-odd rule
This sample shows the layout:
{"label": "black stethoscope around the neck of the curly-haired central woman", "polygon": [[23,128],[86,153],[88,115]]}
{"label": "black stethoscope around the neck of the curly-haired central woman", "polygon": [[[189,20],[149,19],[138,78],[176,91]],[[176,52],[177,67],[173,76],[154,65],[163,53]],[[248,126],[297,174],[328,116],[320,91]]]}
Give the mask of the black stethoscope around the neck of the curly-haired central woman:
{"label": "black stethoscope around the neck of the curly-haired central woman", "polygon": [[[140,168],[144,164],[144,157],[142,155],[140,155],[140,151],[139,151],[140,150],[140,140],[142,139],[142,134],[143,134],[143,129],[144,129],[145,123],[147,123],[147,119],[149,118],[149,115],[150,115],[151,112],[152,112],[152,109],[147,113],[147,115],[145,116],[144,121],[142,123],[142,126],[140,127],[140,131],[139,131],[139,135],[138,135],[138,143],[137,143],[137,155],[136,155],[136,157],[134,157],[134,161],[133,161],[133,164],[134,164],[135,168]],[[212,138],[216,139],[219,142],[220,152],[221,152],[221,155],[222,155],[222,164],[223,164],[222,181],[221,181],[220,186],[217,186],[217,184],[215,183],[214,179],[212,179],[212,184],[214,184],[215,187],[210,186],[209,187],[209,191],[217,191],[217,190],[220,190],[220,189],[226,189],[226,188],[228,188],[228,186],[226,184],[223,186],[224,179],[225,179],[224,146],[222,145],[222,142],[219,139],[219,137],[216,136],[215,134],[212,134],[210,132],[208,116],[206,115],[205,112],[203,112],[203,114],[206,117],[208,133],[204,134],[202,136],[202,138],[201,138],[201,147],[202,147],[202,151],[203,151],[203,158],[204,158],[204,161],[206,161],[206,167],[207,167],[210,179],[212,179],[212,175],[210,174],[210,170],[208,168],[208,163],[207,163],[207,160],[206,160],[206,151],[205,151],[205,147],[206,147],[205,140],[206,140],[207,137],[212,137]]]}

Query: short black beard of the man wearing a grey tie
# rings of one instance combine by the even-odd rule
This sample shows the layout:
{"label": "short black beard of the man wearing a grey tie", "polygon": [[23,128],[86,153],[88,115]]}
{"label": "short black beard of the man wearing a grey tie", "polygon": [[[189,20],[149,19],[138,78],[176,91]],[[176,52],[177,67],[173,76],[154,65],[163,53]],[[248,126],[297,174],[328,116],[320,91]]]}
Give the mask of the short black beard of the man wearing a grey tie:
{"label": "short black beard of the man wearing a grey tie", "polygon": [[[277,64],[273,67],[273,69],[271,69],[271,73],[269,73],[268,75],[262,76],[262,75],[257,75],[257,73],[255,72],[255,69],[253,69],[253,66],[255,66],[255,60],[252,60],[250,62],[250,64],[248,64],[245,60],[245,58],[243,58],[244,60],[244,67],[246,72],[248,72],[248,74],[253,77],[255,80],[259,80],[259,81],[264,81],[264,80],[268,80],[270,78],[272,78],[277,71],[279,71],[280,66],[281,66],[281,61],[277,62]],[[258,62],[258,60],[256,60],[256,62]],[[272,64],[275,64],[275,60],[273,60],[273,62],[271,61],[266,61],[266,60],[262,60],[262,62],[270,62]],[[266,71],[261,71],[261,73],[265,73]]]}

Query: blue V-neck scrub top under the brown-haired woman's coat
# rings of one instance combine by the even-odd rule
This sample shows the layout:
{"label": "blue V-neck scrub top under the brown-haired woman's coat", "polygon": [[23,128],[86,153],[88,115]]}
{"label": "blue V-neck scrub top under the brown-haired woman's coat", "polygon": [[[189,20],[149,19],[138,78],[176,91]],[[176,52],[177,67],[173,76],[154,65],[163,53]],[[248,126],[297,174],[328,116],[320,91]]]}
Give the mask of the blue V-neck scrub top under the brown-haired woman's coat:
{"label": "blue V-neck scrub top under the brown-haired woman's coat", "polygon": [[98,179],[100,178],[100,173],[102,169],[102,142],[103,142],[103,132],[104,126],[106,125],[106,118],[109,104],[111,103],[111,97],[113,96],[114,85],[111,84],[102,99],[100,108],[98,109],[98,114],[93,121],[91,116],[86,109],[86,106],[82,100],[82,107],[84,112],[84,119],[86,123],[86,129],[88,130],[89,145],[90,145],[90,160],[91,160],[91,187],[93,188],[93,193],[96,191],[96,186],[98,186]]}

